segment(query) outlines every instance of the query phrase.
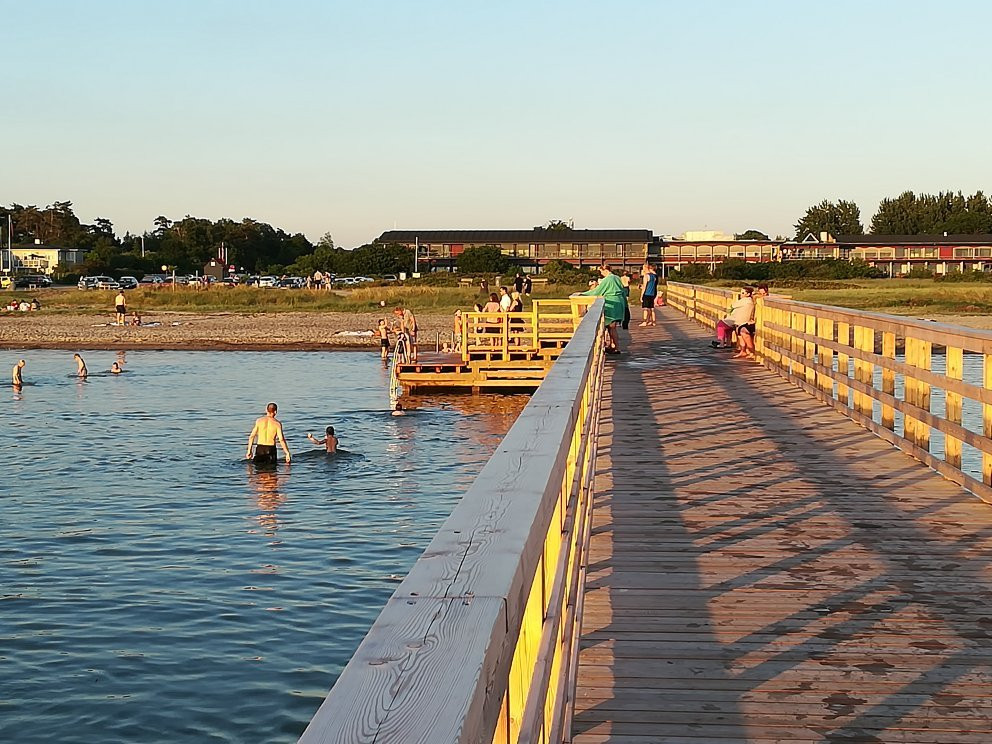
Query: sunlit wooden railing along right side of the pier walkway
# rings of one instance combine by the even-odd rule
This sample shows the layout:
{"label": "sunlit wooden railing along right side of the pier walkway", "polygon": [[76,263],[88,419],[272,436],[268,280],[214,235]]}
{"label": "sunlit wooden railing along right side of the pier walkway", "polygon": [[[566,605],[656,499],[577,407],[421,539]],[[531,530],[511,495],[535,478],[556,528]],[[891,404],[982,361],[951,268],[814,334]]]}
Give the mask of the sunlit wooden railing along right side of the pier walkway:
{"label": "sunlit wooden railing along right side of the pier walkway", "polygon": [[[711,328],[735,296],[668,284],[669,304]],[[762,364],[992,502],[992,332],[775,296],[755,321]]]}

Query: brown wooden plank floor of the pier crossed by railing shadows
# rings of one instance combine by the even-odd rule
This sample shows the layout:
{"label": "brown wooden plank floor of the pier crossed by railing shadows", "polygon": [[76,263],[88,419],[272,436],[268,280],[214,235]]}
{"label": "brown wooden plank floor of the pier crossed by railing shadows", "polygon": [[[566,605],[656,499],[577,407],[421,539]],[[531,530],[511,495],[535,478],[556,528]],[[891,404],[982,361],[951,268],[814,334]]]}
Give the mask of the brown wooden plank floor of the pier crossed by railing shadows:
{"label": "brown wooden plank floor of the pier crossed by railing shadows", "polygon": [[572,741],[992,742],[992,506],[673,310],[631,330]]}

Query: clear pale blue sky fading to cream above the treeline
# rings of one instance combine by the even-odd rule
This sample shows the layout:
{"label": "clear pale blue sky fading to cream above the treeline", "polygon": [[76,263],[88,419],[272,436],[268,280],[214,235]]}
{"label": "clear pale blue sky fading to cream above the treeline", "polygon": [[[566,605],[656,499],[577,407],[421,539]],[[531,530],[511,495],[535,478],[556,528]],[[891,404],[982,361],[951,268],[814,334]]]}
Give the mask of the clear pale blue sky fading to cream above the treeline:
{"label": "clear pale blue sky fading to cream above the treeline", "polygon": [[988,190],[987,2],[0,0],[0,203],[791,234]]}

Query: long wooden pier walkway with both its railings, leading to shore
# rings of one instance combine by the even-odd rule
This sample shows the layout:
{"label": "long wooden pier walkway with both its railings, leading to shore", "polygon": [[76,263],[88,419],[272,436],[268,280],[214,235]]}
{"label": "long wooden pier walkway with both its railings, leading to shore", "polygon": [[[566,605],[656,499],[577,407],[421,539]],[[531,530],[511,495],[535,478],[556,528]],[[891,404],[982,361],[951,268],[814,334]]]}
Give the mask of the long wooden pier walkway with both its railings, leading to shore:
{"label": "long wooden pier walkway with both its railings, leading to shore", "polygon": [[669,292],[605,364],[591,307],[304,744],[992,742],[992,333],[769,298],[755,364]]}

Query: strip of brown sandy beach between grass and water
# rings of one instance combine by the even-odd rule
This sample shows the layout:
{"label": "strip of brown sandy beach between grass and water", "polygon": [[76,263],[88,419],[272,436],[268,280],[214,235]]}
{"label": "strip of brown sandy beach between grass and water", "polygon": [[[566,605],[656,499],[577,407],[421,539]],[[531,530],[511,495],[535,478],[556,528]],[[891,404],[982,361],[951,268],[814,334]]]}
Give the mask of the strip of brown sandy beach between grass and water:
{"label": "strip of brown sandy beach between grass and water", "polygon": [[[112,317],[112,316],[110,316]],[[190,349],[271,350],[377,349],[371,337],[335,335],[368,331],[376,313],[185,313],[145,314],[142,326],[115,326],[106,313],[3,313],[0,348],[6,349]],[[451,331],[447,315],[418,315],[421,348]]]}

